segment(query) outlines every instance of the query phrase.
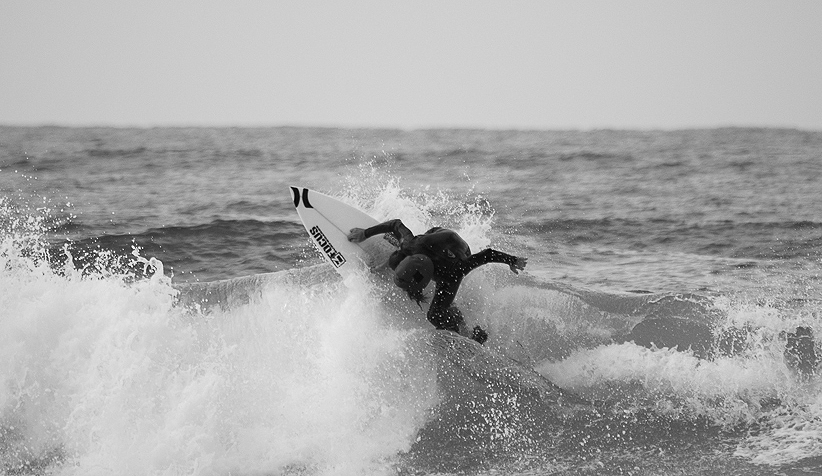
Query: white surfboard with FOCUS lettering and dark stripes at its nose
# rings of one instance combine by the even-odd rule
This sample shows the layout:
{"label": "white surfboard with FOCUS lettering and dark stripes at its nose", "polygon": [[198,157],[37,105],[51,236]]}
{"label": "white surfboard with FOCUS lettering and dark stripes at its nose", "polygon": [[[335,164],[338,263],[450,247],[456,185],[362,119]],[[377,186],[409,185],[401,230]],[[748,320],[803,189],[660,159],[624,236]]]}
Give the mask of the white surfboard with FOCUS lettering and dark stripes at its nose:
{"label": "white surfboard with FOCUS lettering and dark stripes at its nose", "polygon": [[362,243],[348,241],[352,228],[369,228],[379,222],[362,210],[305,187],[291,187],[291,198],[311,241],[342,276],[363,265],[383,265],[396,247],[385,235]]}

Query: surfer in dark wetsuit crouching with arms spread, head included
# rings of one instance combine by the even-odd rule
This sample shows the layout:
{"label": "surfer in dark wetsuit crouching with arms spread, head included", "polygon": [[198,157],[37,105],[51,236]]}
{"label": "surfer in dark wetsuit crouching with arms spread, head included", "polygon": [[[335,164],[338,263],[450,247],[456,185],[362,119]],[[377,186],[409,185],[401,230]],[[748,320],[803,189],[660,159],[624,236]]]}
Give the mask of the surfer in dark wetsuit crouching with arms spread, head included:
{"label": "surfer in dark wetsuit crouching with arms spread, head included", "polygon": [[367,229],[353,228],[348,240],[359,243],[381,233],[390,233],[399,242],[399,249],[388,258],[388,266],[394,270],[394,283],[411,299],[417,304],[425,302],[427,298],[423,290],[431,280],[436,283],[434,298],[428,308],[428,321],[437,329],[453,331],[484,343],[488,333],[476,326],[469,334],[462,312],[453,306],[462,278],[487,263],[507,264],[518,274],[525,269],[528,259],[490,248],[471,254],[468,243],[453,230],[434,227],[415,236],[399,219]]}

